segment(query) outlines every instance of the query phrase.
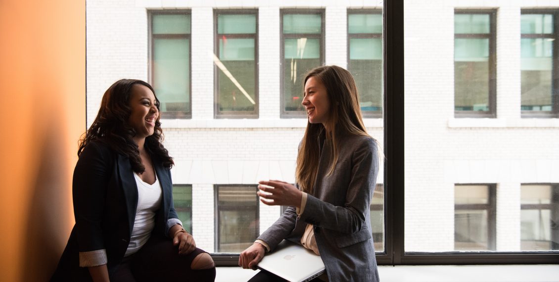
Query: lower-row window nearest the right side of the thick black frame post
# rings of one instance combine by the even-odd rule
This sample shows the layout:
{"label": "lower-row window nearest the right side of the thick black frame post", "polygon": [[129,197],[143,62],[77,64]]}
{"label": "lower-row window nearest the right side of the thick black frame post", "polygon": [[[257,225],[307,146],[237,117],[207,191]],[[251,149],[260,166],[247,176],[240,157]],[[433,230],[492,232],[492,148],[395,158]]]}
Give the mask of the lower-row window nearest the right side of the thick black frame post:
{"label": "lower-row window nearest the right side of the thick black frame post", "polygon": [[454,186],[454,250],[495,250],[495,185]]}

